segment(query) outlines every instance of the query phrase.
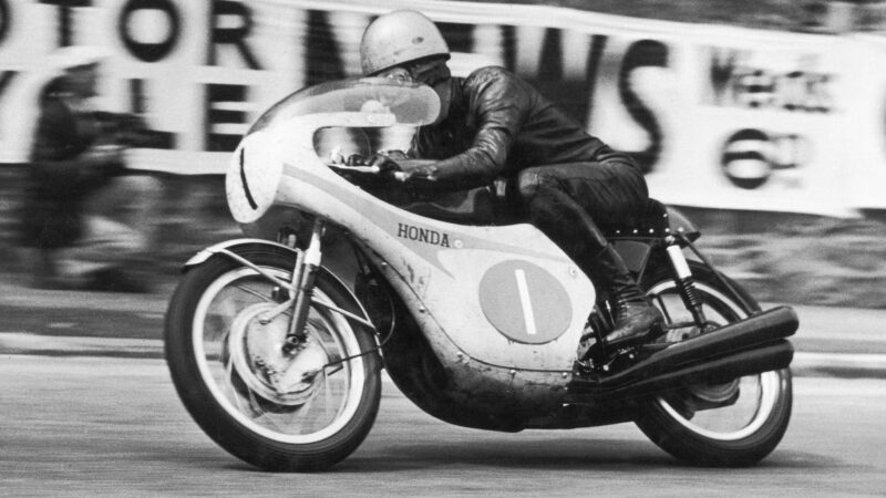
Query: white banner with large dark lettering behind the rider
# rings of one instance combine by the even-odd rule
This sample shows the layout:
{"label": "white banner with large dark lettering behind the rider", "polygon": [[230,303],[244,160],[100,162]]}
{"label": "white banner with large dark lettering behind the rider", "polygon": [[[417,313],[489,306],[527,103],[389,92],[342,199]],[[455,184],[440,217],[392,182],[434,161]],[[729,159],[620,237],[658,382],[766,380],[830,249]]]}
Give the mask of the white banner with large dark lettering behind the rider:
{"label": "white banner with large dark lettering behind the rider", "polygon": [[113,53],[102,106],[138,113],[167,137],[165,148],[133,151],[132,167],[222,173],[264,108],[359,75],[364,28],[396,8],[437,22],[455,74],[505,66],[630,152],[662,201],[886,208],[878,40],[502,3],[0,0],[0,160],[27,159],[47,58],[93,44]]}

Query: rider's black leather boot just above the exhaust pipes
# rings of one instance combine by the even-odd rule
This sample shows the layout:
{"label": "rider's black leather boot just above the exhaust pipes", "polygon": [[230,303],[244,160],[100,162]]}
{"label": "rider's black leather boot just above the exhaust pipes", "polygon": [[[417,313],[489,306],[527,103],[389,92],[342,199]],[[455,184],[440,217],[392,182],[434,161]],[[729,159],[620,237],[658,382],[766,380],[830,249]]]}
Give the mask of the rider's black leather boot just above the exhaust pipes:
{"label": "rider's black leather boot just above the exhaust pipes", "polygon": [[587,266],[594,284],[600,291],[608,291],[615,303],[615,328],[606,336],[607,346],[640,343],[650,335],[653,325],[663,322],[661,312],[646,299],[612,246],[606,245]]}

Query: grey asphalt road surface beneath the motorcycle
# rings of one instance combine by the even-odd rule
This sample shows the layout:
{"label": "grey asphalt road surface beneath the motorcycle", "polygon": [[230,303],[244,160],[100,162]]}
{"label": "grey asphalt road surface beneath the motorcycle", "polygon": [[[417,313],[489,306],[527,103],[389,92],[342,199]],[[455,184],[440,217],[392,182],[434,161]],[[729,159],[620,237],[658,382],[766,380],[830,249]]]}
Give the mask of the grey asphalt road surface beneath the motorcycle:
{"label": "grey asphalt road surface beneath the motorcycle", "polygon": [[684,467],[630,424],[497,434],[450,426],[384,384],[368,439],[323,474],[255,470],[185,413],[155,359],[0,355],[0,495],[858,496],[886,490],[886,381],[795,378],[781,446]]}

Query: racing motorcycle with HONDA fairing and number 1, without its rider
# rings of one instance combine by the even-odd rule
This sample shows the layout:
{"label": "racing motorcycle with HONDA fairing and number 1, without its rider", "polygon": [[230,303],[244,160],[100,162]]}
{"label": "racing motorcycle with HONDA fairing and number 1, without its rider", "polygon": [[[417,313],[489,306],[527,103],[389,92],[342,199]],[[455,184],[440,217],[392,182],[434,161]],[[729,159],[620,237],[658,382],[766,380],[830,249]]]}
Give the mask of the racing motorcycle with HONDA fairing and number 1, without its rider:
{"label": "racing motorcycle with HONDA fairing and number 1, without its rider", "polygon": [[427,198],[348,179],[379,173],[348,158],[406,149],[439,111],[427,86],[346,80],[291,94],[244,136],[226,194],[245,238],[185,263],[165,321],[203,430],[262,469],[324,469],[370,432],[385,371],[460,426],[632,421],[689,464],[769,455],[791,416],[793,310],[761,310],[686,216],[650,200],[640,221],[604,228],[666,324],[607,347],[611,303],[506,209],[507,188]]}

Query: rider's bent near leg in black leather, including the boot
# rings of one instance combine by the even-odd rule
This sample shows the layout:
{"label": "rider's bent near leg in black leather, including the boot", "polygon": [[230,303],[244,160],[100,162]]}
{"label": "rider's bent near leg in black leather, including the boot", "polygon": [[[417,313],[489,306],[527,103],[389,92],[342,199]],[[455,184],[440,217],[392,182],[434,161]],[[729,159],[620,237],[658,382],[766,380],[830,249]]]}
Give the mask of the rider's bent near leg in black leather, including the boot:
{"label": "rider's bent near leg in black leather, including the boot", "polygon": [[[595,175],[584,177],[596,165],[580,164],[530,168],[521,174],[519,191],[533,225],[554,240],[594,284],[608,292],[616,302],[615,329],[607,335],[607,342],[624,345],[646,338],[662,318],[646,300],[621,257],[600,232],[587,206],[584,206],[587,203],[576,199],[577,183],[586,184],[578,190],[594,189]],[[611,178],[608,174],[602,177]],[[625,190],[612,188],[612,185],[607,188],[610,193]],[[630,193],[622,193],[622,197],[626,196],[632,197]],[[639,197],[646,201],[645,196]],[[617,204],[610,203],[612,206]]]}

